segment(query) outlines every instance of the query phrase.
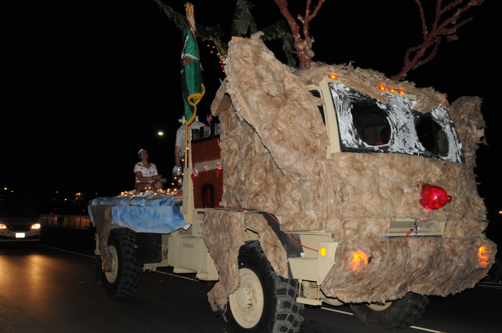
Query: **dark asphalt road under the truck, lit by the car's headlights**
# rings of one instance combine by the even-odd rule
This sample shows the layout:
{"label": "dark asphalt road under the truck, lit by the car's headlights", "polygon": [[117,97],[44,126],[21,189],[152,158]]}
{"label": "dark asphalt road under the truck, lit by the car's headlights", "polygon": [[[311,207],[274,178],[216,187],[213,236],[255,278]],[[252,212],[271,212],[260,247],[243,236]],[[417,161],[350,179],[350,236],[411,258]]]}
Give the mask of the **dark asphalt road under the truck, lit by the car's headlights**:
{"label": "dark asphalt road under the truck, lit by the car's headlights", "polygon": [[[0,244],[0,331],[222,332],[206,293],[210,282],[145,272],[131,298],[111,298],[94,284],[92,234],[55,230],[38,247]],[[190,276],[188,276],[190,277]],[[423,318],[402,333],[498,332],[502,286],[479,284],[448,297],[430,297]],[[306,307],[300,333],[385,332],[351,315],[348,306]]]}

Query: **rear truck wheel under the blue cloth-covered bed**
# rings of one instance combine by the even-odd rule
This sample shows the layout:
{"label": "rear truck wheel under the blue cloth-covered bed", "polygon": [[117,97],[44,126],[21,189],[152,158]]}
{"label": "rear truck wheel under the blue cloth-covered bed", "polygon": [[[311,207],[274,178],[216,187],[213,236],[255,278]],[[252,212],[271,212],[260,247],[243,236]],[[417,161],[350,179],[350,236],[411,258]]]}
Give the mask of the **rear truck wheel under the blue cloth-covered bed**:
{"label": "rear truck wheel under the blue cloth-covered bed", "polygon": [[130,297],[140,289],[143,268],[136,261],[135,238],[131,229],[110,230],[111,271],[103,272],[102,284],[112,297]]}

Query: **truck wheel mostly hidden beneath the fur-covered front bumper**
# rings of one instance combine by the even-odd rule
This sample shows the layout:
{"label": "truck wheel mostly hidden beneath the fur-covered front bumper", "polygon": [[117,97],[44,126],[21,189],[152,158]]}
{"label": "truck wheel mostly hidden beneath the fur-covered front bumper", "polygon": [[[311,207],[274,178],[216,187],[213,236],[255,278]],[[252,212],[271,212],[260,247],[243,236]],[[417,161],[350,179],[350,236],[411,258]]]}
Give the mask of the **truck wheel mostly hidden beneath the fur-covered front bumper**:
{"label": "truck wheel mostly hidden beneath the fur-covered front bumper", "polygon": [[429,303],[427,296],[413,292],[403,298],[384,304],[350,304],[354,316],[370,326],[405,328],[419,321]]}

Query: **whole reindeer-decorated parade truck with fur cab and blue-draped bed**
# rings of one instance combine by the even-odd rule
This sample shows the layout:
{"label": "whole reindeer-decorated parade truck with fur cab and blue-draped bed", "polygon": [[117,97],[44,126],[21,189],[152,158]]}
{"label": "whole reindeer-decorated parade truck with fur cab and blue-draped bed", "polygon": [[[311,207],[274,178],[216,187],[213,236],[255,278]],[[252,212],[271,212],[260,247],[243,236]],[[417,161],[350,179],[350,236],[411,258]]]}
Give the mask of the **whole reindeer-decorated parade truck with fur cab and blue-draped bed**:
{"label": "whole reindeer-decorated parade truck with fur cab and blue-draped bed", "polygon": [[450,105],[350,63],[292,69],[260,35],[232,39],[225,73],[211,104],[220,133],[191,137],[182,197],[89,202],[95,278],[110,296],[169,266],[216,281],[208,306],[227,332],[297,332],[305,305],[323,303],[400,328],[428,295],[487,274],[480,98]]}

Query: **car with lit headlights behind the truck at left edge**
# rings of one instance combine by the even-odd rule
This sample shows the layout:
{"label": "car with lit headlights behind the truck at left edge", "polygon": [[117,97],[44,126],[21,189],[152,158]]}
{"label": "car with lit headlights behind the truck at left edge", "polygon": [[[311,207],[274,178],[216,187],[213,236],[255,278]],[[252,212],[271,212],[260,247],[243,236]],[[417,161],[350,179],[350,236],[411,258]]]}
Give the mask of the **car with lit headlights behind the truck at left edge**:
{"label": "car with lit headlights behind the truck at left edge", "polygon": [[0,202],[0,242],[40,242],[41,225],[24,204]]}

